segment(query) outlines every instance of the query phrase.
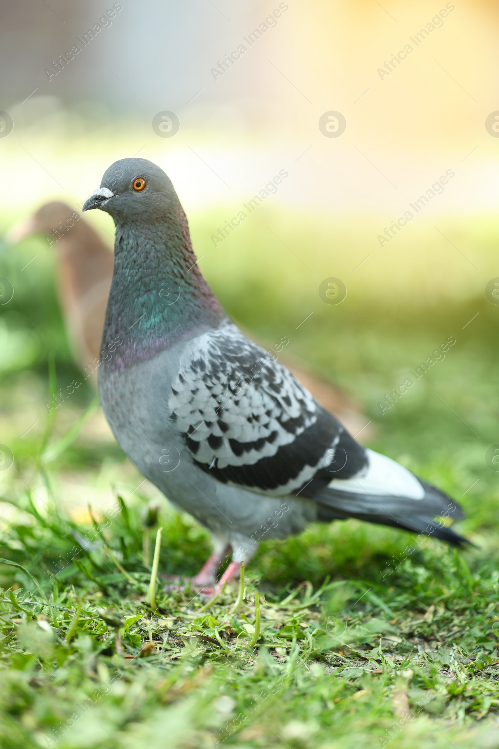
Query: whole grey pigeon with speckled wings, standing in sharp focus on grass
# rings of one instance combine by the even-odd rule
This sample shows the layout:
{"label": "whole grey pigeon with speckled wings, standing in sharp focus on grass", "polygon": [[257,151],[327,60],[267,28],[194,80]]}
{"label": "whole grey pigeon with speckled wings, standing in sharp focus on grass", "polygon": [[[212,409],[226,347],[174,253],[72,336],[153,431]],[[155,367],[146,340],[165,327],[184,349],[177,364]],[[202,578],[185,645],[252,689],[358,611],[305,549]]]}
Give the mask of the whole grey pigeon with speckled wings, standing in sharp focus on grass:
{"label": "whole grey pigeon with speckled wings, standing in sharp focus on grass", "polygon": [[465,542],[438,516],[446,494],[365,449],[224,312],[200,273],[170,179],[145,159],[105,172],[83,210],[116,225],[99,389],[117,442],[138,470],[212,533],[194,578],[218,587],[261,539],[311,521],[358,518]]}

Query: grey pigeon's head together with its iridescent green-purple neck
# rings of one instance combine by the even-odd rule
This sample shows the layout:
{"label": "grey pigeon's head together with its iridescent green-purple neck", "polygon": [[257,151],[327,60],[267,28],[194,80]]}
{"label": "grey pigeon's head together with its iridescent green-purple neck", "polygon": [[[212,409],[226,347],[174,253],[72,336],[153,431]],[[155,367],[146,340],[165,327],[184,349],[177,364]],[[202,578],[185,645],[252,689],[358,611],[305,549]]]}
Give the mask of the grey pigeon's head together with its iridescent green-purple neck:
{"label": "grey pigeon's head together with its iridescent green-purple neck", "polygon": [[[126,342],[117,368],[155,356],[193,327],[218,327],[227,315],[200,273],[189,224],[171,181],[145,159],[121,159],[83,210],[114,219],[114,270],[102,346]],[[111,365],[109,365],[111,366]]]}

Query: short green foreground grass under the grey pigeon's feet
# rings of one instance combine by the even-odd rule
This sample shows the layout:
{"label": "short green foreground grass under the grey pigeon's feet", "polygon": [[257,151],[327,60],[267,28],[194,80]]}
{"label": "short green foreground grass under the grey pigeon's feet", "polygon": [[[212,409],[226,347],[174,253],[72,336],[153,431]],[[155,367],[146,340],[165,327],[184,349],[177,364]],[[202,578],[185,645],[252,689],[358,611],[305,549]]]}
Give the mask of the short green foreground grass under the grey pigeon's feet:
{"label": "short green foreground grass under the grey pigeon's feet", "polygon": [[[499,572],[483,551],[468,565],[385,529],[310,527],[263,545],[235,614],[235,589],[201,610],[165,580],[153,612],[140,503],[97,528],[29,493],[16,505],[3,553],[36,580],[1,565],[2,746],[471,747],[495,720]],[[191,573],[206,533],[159,521],[162,574]],[[326,571],[316,592],[296,585]]]}

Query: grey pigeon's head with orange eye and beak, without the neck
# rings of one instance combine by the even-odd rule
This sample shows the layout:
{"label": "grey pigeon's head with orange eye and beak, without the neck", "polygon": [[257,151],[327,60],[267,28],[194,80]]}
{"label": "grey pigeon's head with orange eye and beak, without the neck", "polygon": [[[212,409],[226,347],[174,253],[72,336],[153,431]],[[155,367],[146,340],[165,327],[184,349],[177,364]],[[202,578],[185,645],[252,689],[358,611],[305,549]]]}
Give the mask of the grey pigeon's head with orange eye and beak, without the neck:
{"label": "grey pigeon's head with orange eye and beak, without the neck", "polygon": [[165,172],[152,161],[132,158],[111,164],[83,210],[99,208],[123,224],[165,219],[178,206],[177,193]]}

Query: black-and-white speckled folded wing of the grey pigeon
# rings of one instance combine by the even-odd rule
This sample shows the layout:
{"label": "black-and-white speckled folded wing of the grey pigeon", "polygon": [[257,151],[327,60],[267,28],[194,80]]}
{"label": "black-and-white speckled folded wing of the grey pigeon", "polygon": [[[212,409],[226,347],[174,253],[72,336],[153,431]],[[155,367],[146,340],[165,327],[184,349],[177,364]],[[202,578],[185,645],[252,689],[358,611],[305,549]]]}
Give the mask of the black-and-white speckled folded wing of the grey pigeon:
{"label": "black-and-white speckled folded wing of the grey pigeon", "polygon": [[169,406],[195,464],[253,491],[310,497],[367,460],[277,357],[233,325],[186,348]]}

